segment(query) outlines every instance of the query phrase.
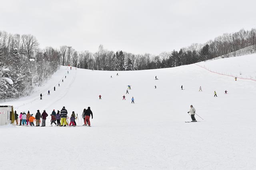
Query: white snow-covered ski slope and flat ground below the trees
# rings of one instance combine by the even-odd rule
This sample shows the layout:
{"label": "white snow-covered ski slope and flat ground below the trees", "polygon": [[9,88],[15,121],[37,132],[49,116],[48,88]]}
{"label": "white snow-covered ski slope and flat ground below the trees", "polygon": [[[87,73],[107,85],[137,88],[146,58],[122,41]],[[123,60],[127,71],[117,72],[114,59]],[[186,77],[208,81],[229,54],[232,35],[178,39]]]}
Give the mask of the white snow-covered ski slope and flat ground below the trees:
{"label": "white snow-covered ski slope and flat ground below the trees", "polygon": [[[247,55],[208,61],[204,65],[218,73],[236,75],[241,71],[242,75],[252,75],[255,63],[256,55]],[[116,73],[60,67],[30,97],[0,103],[13,105],[18,113],[29,110],[35,114],[38,109],[42,113],[45,109],[49,115],[53,109],[65,106],[69,116],[72,111],[78,113],[78,125],[82,125],[80,115],[84,108],[90,106],[94,114],[92,127],[50,127],[50,117],[46,127],[0,127],[1,169],[252,170],[256,167],[256,81],[239,78],[234,81],[234,77],[211,73],[195,64],[118,71],[119,76]],[[129,94],[127,85],[132,88]],[[56,91],[52,90],[54,86]],[[214,97],[214,91],[218,97]],[[40,93],[44,94],[43,100],[39,100]],[[131,104],[132,97],[135,104]],[[204,120],[196,115],[199,122],[185,123],[191,120],[187,113],[190,105]]]}

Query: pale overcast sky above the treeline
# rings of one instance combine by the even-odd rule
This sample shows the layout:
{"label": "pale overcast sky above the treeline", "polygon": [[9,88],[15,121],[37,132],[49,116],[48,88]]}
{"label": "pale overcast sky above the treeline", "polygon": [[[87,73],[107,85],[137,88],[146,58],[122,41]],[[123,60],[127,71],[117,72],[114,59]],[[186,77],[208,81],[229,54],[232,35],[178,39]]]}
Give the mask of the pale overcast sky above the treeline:
{"label": "pale overcast sky above the treeline", "polygon": [[158,54],[256,28],[256,0],[2,0],[0,18],[41,48]]}

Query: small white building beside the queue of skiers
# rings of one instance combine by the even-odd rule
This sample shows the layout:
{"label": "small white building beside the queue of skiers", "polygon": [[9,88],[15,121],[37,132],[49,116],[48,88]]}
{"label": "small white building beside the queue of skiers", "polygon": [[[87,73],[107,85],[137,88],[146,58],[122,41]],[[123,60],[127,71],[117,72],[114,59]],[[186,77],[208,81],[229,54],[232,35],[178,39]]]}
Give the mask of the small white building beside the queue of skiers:
{"label": "small white building beside the queue of skiers", "polygon": [[13,106],[0,106],[0,125],[12,124],[14,120]]}

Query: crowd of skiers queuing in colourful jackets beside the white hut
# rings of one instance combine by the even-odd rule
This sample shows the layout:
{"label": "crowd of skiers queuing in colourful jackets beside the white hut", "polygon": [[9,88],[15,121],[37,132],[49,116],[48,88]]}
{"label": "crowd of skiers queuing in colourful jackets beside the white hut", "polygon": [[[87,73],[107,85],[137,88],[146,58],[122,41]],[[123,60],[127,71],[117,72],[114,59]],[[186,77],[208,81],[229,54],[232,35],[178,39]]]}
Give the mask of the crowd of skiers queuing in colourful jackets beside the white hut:
{"label": "crowd of skiers queuing in colourful jackets beside the white hut", "polygon": [[[28,111],[28,113],[26,114],[25,112],[21,112],[20,115],[17,114],[17,112],[14,112],[14,116],[15,116],[15,121],[16,121],[16,125],[19,126],[35,126],[34,125],[34,121],[36,122],[36,127],[40,127],[40,123],[41,123],[41,127],[45,127],[46,126],[46,117],[48,117],[48,114],[46,113],[46,111],[44,110],[43,113],[41,114],[39,110],[37,110],[36,115],[33,116],[34,114],[30,114],[30,112]],[[60,126],[60,127],[66,127],[68,125],[67,122],[67,118],[68,118],[68,111],[65,109],[65,106],[62,107],[61,111],[57,111],[57,113],[55,112],[55,109],[53,109],[52,114],[50,114],[51,119],[51,126],[54,123],[55,126]],[[88,109],[84,109],[83,113],[82,113],[82,117],[84,119],[84,125],[83,126],[91,126],[90,123],[90,116],[92,116],[93,119],[93,115],[92,115],[92,111],[90,109],[90,107],[88,107]],[[20,123],[18,123],[18,119],[20,119]],[[72,115],[70,116],[70,123],[68,126],[76,126],[76,114],[74,111],[72,111]],[[57,123],[56,123],[57,121]]]}

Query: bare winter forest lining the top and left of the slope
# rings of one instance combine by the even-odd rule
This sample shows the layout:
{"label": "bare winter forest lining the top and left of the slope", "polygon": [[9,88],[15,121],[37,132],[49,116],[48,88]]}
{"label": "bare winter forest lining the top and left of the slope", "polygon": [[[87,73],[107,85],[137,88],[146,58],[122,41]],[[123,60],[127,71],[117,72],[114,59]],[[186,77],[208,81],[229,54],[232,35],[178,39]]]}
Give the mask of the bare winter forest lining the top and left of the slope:
{"label": "bare winter forest lining the top and left of the slope", "polygon": [[59,49],[40,49],[39,45],[33,35],[0,32],[0,99],[29,95],[33,86],[44,83],[60,65],[109,71],[145,70],[225,57],[244,48],[250,53],[256,51],[256,29],[223,34],[204,44],[194,43],[178,51],[164,51],[159,55],[133,54],[122,50],[114,52],[104,49],[103,45],[95,53],[79,52],[69,45],[62,45]]}

